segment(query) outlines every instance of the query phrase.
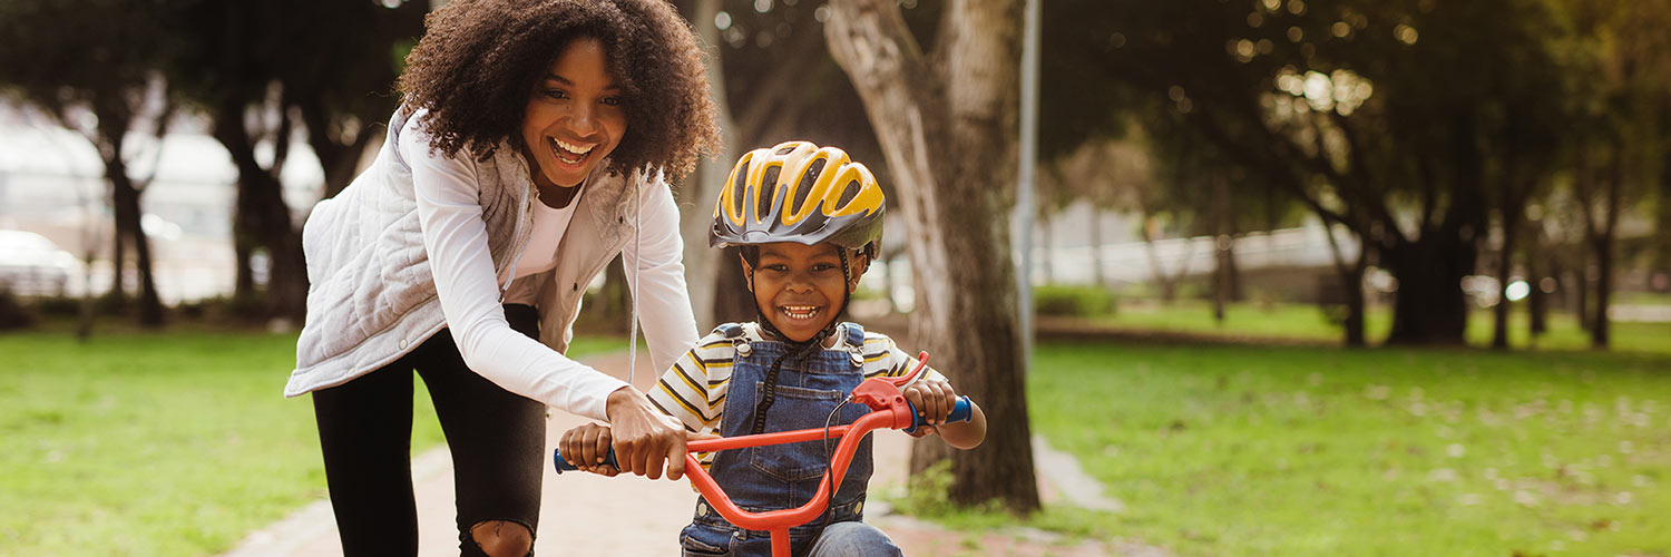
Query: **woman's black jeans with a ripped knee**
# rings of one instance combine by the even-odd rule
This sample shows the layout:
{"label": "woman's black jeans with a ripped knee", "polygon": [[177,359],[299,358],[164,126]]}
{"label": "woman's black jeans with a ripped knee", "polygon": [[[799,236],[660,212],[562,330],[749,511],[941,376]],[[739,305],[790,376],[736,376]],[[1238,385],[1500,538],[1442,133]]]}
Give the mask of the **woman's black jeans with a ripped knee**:
{"label": "woman's black jeans with a ripped knee", "polygon": [[[533,308],[506,304],[505,318],[518,333],[540,338]],[[483,555],[470,527],[485,520],[518,522],[533,534],[545,470],[545,405],[471,371],[451,331],[441,330],[394,363],[312,395],[343,554],[418,555],[413,370],[434,400],[453,453],[460,552]]]}

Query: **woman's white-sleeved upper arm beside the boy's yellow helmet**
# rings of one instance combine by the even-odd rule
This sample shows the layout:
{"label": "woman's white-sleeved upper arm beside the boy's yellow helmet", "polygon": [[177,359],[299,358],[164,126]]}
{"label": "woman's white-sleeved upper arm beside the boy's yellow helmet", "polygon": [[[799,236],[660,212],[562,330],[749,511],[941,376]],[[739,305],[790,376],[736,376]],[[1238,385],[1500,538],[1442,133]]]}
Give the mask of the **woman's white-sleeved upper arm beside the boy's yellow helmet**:
{"label": "woman's white-sleeved upper arm beside the boy's yellow helmet", "polygon": [[638,323],[643,324],[643,336],[650,343],[650,361],[657,371],[668,370],[697,343],[697,319],[690,311],[690,289],[685,286],[683,251],[678,206],[658,171],[638,192],[638,239],[627,243],[622,251],[627,284],[638,296]]}

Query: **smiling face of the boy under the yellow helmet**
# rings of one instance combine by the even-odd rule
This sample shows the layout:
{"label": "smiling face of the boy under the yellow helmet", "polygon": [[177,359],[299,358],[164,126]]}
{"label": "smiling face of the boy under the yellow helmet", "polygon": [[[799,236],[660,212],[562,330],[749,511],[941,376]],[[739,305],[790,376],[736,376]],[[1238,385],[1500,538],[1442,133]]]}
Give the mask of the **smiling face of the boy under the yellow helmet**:
{"label": "smiling face of the boy under the yellow helmet", "polygon": [[754,303],[772,326],[792,341],[802,343],[824,330],[847,293],[859,286],[859,276],[869,266],[866,258],[852,261],[852,283],[841,271],[841,254],[836,244],[807,246],[800,243],[760,244],[759,266],[744,259],[744,273],[752,273]]}

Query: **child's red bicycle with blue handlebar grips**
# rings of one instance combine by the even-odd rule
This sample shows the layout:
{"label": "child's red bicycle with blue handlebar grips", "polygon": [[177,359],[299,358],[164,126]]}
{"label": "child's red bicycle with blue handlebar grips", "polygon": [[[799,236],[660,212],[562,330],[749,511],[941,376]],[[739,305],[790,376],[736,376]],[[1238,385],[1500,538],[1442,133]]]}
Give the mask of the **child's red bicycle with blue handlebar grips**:
{"label": "child's red bicycle with blue handlebar grips", "polygon": [[[772,534],[772,557],[789,557],[789,529],[812,522],[829,507],[830,487],[841,485],[847,477],[847,465],[852,463],[852,455],[859,448],[859,442],[874,430],[904,430],[906,433],[916,432],[919,427],[927,425],[922,422],[911,401],[899,390],[906,383],[911,383],[922,368],[927,366],[929,353],[917,355],[917,366],[911,373],[897,378],[876,376],[864,380],[852,390],[847,401],[862,403],[871,406],[871,413],[861,416],[851,425],[837,425],[812,430],[792,430],[792,432],[774,432],[759,435],[739,435],[739,437],[722,437],[709,440],[688,442],[685,453],[685,477],[690,483],[702,492],[702,497],[709,500],[725,520],[730,524],[749,529],[764,530]],[[847,403],[844,401],[844,403]],[[952,406],[951,413],[946,415],[946,423],[968,422],[973,418],[973,408],[969,396],[957,396],[957,403]],[[836,445],[836,452],[830,458],[829,470],[824,470],[824,478],[819,482],[817,493],[812,500],[795,508],[779,508],[765,512],[747,512],[732,503],[725,490],[720,488],[714,477],[702,468],[702,462],[697,460],[697,453],[732,450],[732,448],[749,448],[764,445],[784,445],[784,443],[800,443],[815,440],[841,438]],[[561,450],[551,452],[551,462],[558,473],[576,470],[563,460]],[[615,465],[615,450],[610,448],[605,457],[605,463]],[[832,478],[834,473],[834,478]]]}

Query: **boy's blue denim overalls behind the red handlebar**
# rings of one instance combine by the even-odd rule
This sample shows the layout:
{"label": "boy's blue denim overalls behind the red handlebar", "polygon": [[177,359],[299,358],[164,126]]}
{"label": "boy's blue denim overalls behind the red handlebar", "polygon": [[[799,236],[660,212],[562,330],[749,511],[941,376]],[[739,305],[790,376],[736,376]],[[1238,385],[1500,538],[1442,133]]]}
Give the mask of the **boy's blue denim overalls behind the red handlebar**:
{"label": "boy's blue denim overalls behind the red handlebar", "polygon": [[[725,416],[720,418],[720,435],[749,435],[754,427],[754,410],[765,390],[765,375],[772,361],[790,351],[780,341],[747,341],[742,326],[720,328],[732,338],[737,355],[732,363],[730,386],[725,395]],[[846,333],[846,350],[819,348],[805,356],[784,358],[777,371],[777,395],[765,411],[765,432],[822,428],[830,410],[841,405],[852,388],[864,380],[864,328],[844,323],[837,333]],[[852,423],[869,413],[859,403],[842,405],[830,425]],[[839,438],[829,442],[830,453]],[[829,468],[824,442],[750,447],[724,450],[714,458],[709,473],[730,495],[737,507],[749,512],[794,508],[812,500],[824,470]],[[830,497],[829,510],[809,524],[789,529],[790,552],[805,554],[825,525],[842,520],[862,520],[866,485],[871,480],[871,438],[847,467],[847,477]],[[678,535],[685,555],[770,555],[772,540],[767,532],[742,530],[720,517],[705,498],[697,498],[697,514]]]}

